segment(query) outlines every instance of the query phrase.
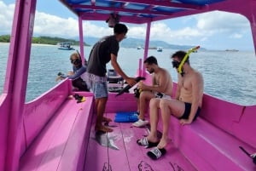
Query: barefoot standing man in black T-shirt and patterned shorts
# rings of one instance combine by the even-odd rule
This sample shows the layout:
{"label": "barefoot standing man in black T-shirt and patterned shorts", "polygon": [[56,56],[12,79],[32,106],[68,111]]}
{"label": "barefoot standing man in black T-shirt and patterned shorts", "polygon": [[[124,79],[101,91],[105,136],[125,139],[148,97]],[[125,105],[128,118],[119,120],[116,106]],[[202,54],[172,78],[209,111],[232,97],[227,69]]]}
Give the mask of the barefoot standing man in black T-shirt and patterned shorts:
{"label": "barefoot standing man in black T-shirt and patterned shorts", "polygon": [[116,24],[113,27],[113,35],[102,37],[90,51],[87,72],[90,88],[96,98],[96,131],[112,132],[112,128],[102,125],[102,122],[110,122],[111,119],[103,117],[105,107],[108,101],[107,87],[107,68],[106,65],[110,61],[113,69],[119,73],[125,81],[133,86],[136,84],[135,78],[128,77],[120,68],[117,62],[119,52],[119,42],[121,42],[128,31],[124,24]]}

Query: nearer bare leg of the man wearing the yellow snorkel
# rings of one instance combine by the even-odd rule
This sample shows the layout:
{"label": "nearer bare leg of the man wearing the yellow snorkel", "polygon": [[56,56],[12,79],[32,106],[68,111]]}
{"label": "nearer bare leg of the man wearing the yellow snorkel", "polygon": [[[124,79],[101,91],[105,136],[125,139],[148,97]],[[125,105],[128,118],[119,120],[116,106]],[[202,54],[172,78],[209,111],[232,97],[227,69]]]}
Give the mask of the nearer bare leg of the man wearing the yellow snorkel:
{"label": "nearer bare leg of the man wearing the yellow snorkel", "polygon": [[161,99],[160,110],[163,122],[163,134],[157,147],[164,148],[169,141],[168,134],[171,114],[175,117],[182,117],[185,110],[185,105],[182,101],[179,100]]}

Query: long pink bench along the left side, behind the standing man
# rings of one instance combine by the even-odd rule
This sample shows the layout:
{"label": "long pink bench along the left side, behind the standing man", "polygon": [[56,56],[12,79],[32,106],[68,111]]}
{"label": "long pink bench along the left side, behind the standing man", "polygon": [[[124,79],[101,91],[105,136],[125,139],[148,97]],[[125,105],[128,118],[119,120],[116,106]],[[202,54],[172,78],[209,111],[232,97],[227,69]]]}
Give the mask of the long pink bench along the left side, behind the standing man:
{"label": "long pink bench along the left side, behind the standing man", "polygon": [[20,157],[19,170],[83,170],[92,104],[93,97],[66,100]]}

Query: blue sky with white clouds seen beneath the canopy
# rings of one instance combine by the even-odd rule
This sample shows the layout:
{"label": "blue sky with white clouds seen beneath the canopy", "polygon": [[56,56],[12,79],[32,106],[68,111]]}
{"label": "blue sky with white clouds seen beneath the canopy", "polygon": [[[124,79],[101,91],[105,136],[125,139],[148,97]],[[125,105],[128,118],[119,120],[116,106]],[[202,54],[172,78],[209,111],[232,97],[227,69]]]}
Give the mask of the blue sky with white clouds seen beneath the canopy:
{"label": "blue sky with white clouds seen beneath the canopy", "polygon": [[[14,0],[0,0],[0,35],[10,34],[15,9]],[[34,35],[78,37],[75,14],[57,0],[38,0]],[[102,37],[112,34],[104,21],[84,21],[84,36]],[[145,25],[129,25],[128,37],[144,38]],[[253,37],[248,20],[240,14],[211,12],[152,23],[150,39],[170,44],[200,45],[207,49],[239,49],[253,51]],[[86,42],[86,40],[85,40]]]}

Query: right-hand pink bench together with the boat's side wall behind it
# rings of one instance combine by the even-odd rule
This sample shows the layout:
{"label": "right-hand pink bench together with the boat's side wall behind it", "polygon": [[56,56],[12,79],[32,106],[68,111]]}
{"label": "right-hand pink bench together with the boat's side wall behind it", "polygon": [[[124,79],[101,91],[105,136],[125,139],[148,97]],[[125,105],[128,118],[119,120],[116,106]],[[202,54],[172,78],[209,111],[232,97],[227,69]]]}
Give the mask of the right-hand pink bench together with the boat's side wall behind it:
{"label": "right-hand pink bench together with the boat's side wall behind it", "polygon": [[204,96],[201,116],[181,126],[172,117],[170,137],[198,170],[256,170],[249,153],[256,152],[255,106],[245,107]]}

